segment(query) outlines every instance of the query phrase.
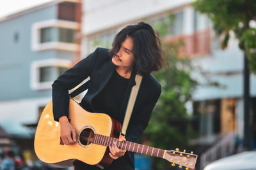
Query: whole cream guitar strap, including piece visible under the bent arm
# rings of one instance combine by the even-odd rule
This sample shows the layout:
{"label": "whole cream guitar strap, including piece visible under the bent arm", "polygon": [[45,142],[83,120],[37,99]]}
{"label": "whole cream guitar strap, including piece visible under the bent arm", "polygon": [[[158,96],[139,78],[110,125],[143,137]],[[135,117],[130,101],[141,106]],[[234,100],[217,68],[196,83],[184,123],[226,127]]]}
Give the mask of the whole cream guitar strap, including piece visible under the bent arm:
{"label": "whole cream guitar strap, including piece visible under the bent arm", "polygon": [[[131,89],[131,93],[130,93],[129,100],[128,100],[127,107],[126,107],[126,111],[125,111],[124,122],[123,122],[123,125],[122,125],[122,131],[120,132],[120,136],[125,137],[126,129],[128,127],[128,124],[129,124],[129,121],[130,121],[130,118],[131,118],[131,115],[132,115],[132,110],[134,108],[134,103],[136,101],[136,97],[137,97],[138,91],[140,89],[141,80],[142,80],[142,76],[140,76],[139,74],[136,74],[136,76],[135,76],[136,85],[134,85]],[[70,97],[76,97],[77,95],[81,94],[81,92],[88,89],[89,81],[90,80],[86,81],[79,88],[77,88],[76,90],[71,92],[69,94],[69,96]]]}

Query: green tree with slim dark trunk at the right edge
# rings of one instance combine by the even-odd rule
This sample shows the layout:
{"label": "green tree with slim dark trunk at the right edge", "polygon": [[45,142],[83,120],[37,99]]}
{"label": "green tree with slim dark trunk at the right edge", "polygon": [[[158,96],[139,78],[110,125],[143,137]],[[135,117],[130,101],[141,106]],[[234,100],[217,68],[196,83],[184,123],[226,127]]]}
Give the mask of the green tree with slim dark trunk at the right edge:
{"label": "green tree with slim dark trunk at the right edge", "polygon": [[[250,119],[250,71],[256,74],[256,29],[250,23],[256,21],[255,0],[196,0],[196,10],[211,18],[214,30],[225,38],[222,48],[228,45],[230,32],[239,40],[239,48],[244,52],[244,147],[250,148],[252,122]],[[248,69],[250,67],[250,71]]]}

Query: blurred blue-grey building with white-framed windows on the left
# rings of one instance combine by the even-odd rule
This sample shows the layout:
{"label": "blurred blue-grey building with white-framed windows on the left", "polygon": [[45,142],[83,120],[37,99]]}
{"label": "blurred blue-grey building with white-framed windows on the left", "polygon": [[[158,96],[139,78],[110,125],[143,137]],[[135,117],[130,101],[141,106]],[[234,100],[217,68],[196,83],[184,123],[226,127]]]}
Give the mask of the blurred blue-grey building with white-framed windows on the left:
{"label": "blurred blue-grey building with white-framed windows on the left", "polygon": [[79,0],[0,18],[0,125],[23,149],[33,152],[33,125],[51,101],[52,81],[79,60],[80,27]]}

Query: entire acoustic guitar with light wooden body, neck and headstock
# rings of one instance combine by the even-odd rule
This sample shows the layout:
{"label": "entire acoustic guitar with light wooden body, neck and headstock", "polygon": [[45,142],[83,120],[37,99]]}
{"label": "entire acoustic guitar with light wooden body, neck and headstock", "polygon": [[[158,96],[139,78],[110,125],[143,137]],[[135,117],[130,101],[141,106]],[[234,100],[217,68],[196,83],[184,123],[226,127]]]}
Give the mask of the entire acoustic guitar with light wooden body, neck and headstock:
{"label": "entire acoustic guitar with light wooden body, neck and headstock", "polygon": [[76,101],[70,99],[70,124],[77,131],[77,143],[63,145],[60,139],[60,124],[54,121],[52,101],[45,106],[40,117],[35,134],[35,153],[37,157],[47,164],[56,167],[73,166],[74,160],[81,160],[101,169],[108,167],[112,159],[109,157],[108,146],[113,143],[122,150],[142,153],[159,157],[173,162],[172,166],[179,164],[186,169],[194,168],[197,155],[177,150],[162,150],[130,141],[118,141],[121,125],[118,121],[104,113],[90,113]]}

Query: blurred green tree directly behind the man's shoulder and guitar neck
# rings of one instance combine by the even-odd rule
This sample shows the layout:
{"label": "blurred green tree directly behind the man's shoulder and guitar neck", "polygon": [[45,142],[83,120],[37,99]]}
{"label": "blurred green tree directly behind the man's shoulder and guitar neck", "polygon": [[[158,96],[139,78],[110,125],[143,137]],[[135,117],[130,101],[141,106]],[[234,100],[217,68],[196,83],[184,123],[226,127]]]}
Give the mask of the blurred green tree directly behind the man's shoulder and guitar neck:
{"label": "blurred green tree directly behind the man's shoulder and guitar neck", "polygon": [[[170,17],[172,17],[170,15]],[[171,23],[171,20],[170,20]],[[170,30],[166,22],[157,23],[156,29],[161,37],[166,35]],[[156,25],[155,25],[156,26]],[[169,65],[161,71],[154,73],[157,80],[162,85],[162,93],[152,113],[148,127],[143,135],[143,140],[150,141],[150,145],[167,150],[175,148],[187,148],[191,132],[189,128],[189,115],[186,111],[185,104],[191,99],[191,91],[196,86],[196,81],[190,76],[193,67],[189,59],[178,59],[177,51],[179,46],[183,46],[182,41],[176,43],[164,44],[164,55]],[[186,124],[180,126],[182,122]],[[154,169],[170,169],[170,162],[163,159],[153,159]]]}

